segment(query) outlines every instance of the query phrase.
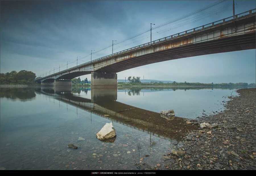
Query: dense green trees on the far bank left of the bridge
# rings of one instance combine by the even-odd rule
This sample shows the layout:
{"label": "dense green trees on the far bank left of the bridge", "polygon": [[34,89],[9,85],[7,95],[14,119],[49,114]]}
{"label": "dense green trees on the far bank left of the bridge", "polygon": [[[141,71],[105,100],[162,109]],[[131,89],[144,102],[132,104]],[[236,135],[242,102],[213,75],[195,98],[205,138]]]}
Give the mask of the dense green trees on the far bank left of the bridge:
{"label": "dense green trees on the far bank left of the bridge", "polygon": [[32,71],[22,70],[19,72],[11,71],[10,73],[0,74],[0,84],[24,84],[32,85],[36,84],[34,82],[36,74]]}

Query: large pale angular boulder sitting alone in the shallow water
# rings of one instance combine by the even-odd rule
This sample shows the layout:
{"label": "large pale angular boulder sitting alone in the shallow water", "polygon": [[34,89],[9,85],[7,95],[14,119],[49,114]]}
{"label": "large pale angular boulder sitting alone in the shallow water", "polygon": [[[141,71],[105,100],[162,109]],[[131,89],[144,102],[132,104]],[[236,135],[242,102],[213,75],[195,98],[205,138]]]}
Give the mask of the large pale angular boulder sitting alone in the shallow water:
{"label": "large pale angular boulder sitting alone in the shallow water", "polygon": [[104,127],[96,134],[96,138],[99,140],[106,140],[116,136],[115,129],[112,122],[106,123]]}

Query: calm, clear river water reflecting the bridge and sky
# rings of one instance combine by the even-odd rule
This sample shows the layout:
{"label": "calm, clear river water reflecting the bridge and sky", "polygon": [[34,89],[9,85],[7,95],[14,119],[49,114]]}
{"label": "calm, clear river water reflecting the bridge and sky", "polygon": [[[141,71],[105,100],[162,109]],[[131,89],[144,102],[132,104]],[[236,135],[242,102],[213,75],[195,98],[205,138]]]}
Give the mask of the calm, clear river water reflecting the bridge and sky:
{"label": "calm, clear river water reflecting the bridge and sky", "polygon": [[[227,96],[237,96],[234,89],[191,88],[0,92],[0,167],[6,169],[154,169],[175,142],[196,129],[185,118],[224,110]],[[165,109],[177,117],[161,117]],[[117,137],[98,140],[96,133],[110,122]]]}

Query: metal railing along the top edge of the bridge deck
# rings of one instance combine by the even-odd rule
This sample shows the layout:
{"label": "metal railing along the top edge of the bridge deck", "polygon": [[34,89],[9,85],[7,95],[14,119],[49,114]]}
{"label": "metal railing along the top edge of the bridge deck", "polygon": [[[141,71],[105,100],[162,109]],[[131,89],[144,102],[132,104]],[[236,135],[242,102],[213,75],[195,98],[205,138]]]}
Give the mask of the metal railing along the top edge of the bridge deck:
{"label": "metal railing along the top edge of the bridge deck", "polygon": [[[240,13],[240,14],[237,14],[235,15],[235,19],[236,18],[240,18],[240,17],[243,17],[243,16],[246,16],[246,15],[250,15],[252,13],[256,13],[256,9],[252,9],[252,10],[249,10],[249,11],[246,11],[246,12],[243,12],[243,13]],[[183,32],[179,32],[177,34],[174,34],[174,35],[171,35],[171,36],[168,36],[168,37],[164,37],[164,38],[160,38],[158,40],[154,40],[152,41],[151,44],[157,44],[157,43],[160,43],[160,42],[164,42],[164,41],[168,41],[168,40],[172,40],[174,38],[177,38],[179,36],[183,36],[185,34],[188,34],[188,33],[192,33],[192,32],[198,32],[199,30],[203,30],[205,28],[209,28],[209,27],[212,27],[212,26],[215,26],[215,25],[218,25],[218,24],[221,24],[221,23],[224,23],[224,22],[228,22],[230,20],[233,20],[233,16],[230,16],[228,18],[224,18],[222,20],[218,20],[218,21],[215,21],[215,22],[212,22],[212,23],[209,23],[209,24],[205,24],[205,25],[202,25],[202,26],[199,26],[199,27],[196,27],[196,28],[193,28],[193,29],[189,29],[189,30],[186,30],[186,31],[183,31]],[[93,61],[89,61],[89,62],[86,62],[86,63],[83,63],[81,65],[78,65],[77,67],[82,67],[84,65],[88,65],[90,63],[94,63],[94,62],[97,62],[97,61],[100,61],[100,60],[104,60],[106,58],[111,58],[111,57],[115,57],[116,55],[119,55],[121,53],[125,53],[125,52],[128,52],[128,51],[132,51],[132,50],[136,50],[138,48],[144,48],[144,47],[147,47],[147,46],[150,46],[151,45],[150,42],[148,43],[145,43],[145,44],[142,44],[142,45],[138,45],[138,46],[135,46],[135,47],[132,47],[132,48],[129,48],[129,49],[125,49],[123,51],[119,51],[117,53],[113,53],[113,54],[110,54],[110,55],[107,55],[107,56],[104,56],[104,57],[100,57],[98,59],[95,59]],[[77,67],[71,67],[69,69],[66,69],[66,70],[63,70],[63,71],[60,71],[58,73],[64,73],[64,72],[67,72],[68,70],[71,70],[71,69],[75,69]],[[57,74],[57,73],[55,73]],[[52,75],[55,75],[55,74],[51,74],[49,76],[52,76]],[[47,77],[49,77],[47,76]]]}

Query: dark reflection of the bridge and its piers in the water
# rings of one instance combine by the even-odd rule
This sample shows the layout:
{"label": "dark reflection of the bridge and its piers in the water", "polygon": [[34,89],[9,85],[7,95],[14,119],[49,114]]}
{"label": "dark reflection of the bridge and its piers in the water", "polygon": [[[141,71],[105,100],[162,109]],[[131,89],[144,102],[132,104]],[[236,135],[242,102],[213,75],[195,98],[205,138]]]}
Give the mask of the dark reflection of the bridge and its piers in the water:
{"label": "dark reflection of the bridge and its piers in the water", "polygon": [[[187,125],[184,118],[166,119],[160,113],[117,102],[117,89],[92,89],[91,99],[74,96],[71,88],[42,88],[37,92],[52,96],[54,100],[65,102],[77,108],[89,111],[111,121],[157,134],[171,139],[181,139],[187,131],[196,129]],[[92,121],[92,119],[91,119]]]}

